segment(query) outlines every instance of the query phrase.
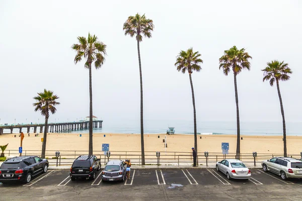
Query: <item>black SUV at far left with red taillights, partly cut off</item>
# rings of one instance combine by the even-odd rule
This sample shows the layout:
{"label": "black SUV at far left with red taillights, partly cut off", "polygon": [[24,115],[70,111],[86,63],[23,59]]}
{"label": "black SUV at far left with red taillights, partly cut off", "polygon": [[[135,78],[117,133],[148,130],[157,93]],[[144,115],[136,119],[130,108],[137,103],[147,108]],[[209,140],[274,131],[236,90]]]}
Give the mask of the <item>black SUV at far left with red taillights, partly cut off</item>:
{"label": "black SUV at far left with red taillights, partly cut off", "polygon": [[38,156],[20,156],[7,159],[0,167],[0,182],[23,181],[29,183],[33,176],[47,172],[48,161]]}

